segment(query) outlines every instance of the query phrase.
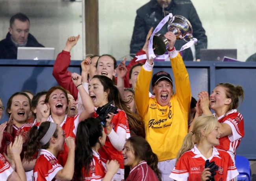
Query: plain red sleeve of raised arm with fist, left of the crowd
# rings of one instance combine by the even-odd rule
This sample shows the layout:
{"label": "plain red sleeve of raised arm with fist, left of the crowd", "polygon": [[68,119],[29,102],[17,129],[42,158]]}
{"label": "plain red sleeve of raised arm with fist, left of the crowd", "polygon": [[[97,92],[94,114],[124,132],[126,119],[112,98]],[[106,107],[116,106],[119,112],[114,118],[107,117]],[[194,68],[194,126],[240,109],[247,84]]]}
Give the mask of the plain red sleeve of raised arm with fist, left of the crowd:
{"label": "plain red sleeve of raised arm with fist, left of the crowd", "polygon": [[70,64],[70,57],[70,52],[64,50],[60,52],[54,62],[52,75],[58,84],[69,90],[70,94],[77,100],[78,90],[71,79],[71,72],[67,70]]}

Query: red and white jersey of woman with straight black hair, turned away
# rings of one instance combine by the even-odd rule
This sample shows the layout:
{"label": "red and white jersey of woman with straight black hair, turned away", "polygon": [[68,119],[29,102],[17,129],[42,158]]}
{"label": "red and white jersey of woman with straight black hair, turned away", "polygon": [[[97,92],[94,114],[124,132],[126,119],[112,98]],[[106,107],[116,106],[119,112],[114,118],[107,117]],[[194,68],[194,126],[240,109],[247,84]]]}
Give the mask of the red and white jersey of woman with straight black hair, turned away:
{"label": "red and white jersey of woman with straight black hair, turned away", "polygon": [[90,164],[89,174],[82,168],[83,181],[101,181],[105,174],[106,169],[102,165],[100,156],[97,152],[93,150],[93,161]]}

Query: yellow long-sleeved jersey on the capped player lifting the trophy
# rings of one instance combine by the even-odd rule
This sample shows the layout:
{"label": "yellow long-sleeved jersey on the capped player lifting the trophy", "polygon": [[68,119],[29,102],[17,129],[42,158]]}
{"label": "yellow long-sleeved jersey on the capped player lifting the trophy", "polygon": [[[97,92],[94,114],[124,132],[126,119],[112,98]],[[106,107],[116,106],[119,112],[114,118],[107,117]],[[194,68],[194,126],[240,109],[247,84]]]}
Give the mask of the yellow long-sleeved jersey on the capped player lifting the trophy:
{"label": "yellow long-sleeved jersey on the capped player lifting the trophy", "polygon": [[180,54],[170,60],[176,93],[168,105],[161,106],[156,98],[148,97],[152,71],[142,67],[135,87],[135,104],[145,123],[146,140],[159,161],[175,158],[181,148],[191,101],[189,76]]}

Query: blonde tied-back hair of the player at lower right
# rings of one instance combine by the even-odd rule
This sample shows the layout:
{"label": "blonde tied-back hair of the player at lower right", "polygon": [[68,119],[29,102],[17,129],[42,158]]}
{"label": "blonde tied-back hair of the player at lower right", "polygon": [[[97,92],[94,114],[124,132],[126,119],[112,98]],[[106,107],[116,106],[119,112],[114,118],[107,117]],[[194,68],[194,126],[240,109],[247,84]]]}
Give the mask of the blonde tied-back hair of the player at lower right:
{"label": "blonde tied-back hair of the player at lower right", "polygon": [[189,132],[184,138],[182,147],[177,154],[177,161],[182,154],[188,150],[191,150],[195,143],[198,143],[202,139],[202,130],[204,131],[205,136],[208,136],[215,129],[217,122],[218,120],[214,116],[199,116],[195,120],[192,131]]}

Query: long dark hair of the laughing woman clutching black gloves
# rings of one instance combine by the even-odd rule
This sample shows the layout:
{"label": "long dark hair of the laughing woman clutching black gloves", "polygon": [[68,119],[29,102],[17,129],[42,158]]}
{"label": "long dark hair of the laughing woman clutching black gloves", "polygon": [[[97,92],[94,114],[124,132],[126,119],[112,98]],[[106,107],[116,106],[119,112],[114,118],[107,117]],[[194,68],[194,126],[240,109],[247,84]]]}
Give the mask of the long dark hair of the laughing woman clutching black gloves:
{"label": "long dark hair of the laughing woman clutching black gloves", "polygon": [[117,87],[113,84],[110,78],[102,75],[95,75],[93,78],[98,78],[101,84],[104,87],[104,91],[108,92],[108,102],[114,101],[115,107],[118,109],[124,110],[126,113],[129,127],[137,129],[137,131],[141,134],[139,136],[143,136],[145,134],[144,125],[141,117],[138,114],[133,113],[126,105],[127,102],[122,100],[121,94]]}

